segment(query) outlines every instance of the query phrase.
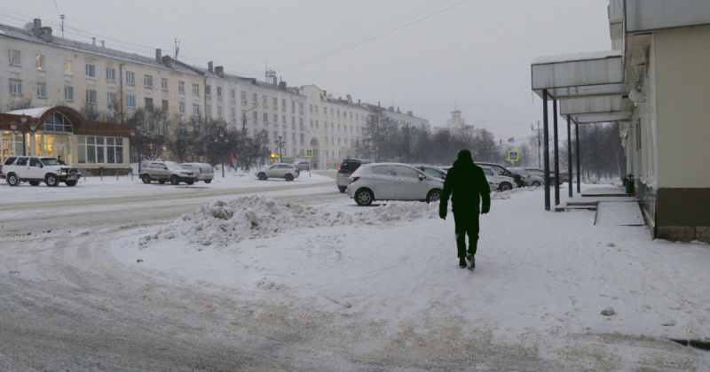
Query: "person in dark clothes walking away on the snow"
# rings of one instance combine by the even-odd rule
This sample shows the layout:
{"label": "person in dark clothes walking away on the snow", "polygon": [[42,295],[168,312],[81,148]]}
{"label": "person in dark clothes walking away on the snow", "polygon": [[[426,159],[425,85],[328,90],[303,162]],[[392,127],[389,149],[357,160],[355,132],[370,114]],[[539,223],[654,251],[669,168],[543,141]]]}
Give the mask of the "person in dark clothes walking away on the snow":
{"label": "person in dark clothes walking away on the snow", "polygon": [[[451,210],[454,213],[454,231],[456,249],[459,255],[459,267],[476,268],[476,250],[478,244],[478,214],[488,213],[491,209],[491,189],[485,179],[483,169],[473,164],[471,151],[459,151],[454,166],[446,173],[444,191],[438,205],[438,215],[446,220],[448,200],[451,197]],[[466,249],[466,236],[469,236],[469,248]]]}

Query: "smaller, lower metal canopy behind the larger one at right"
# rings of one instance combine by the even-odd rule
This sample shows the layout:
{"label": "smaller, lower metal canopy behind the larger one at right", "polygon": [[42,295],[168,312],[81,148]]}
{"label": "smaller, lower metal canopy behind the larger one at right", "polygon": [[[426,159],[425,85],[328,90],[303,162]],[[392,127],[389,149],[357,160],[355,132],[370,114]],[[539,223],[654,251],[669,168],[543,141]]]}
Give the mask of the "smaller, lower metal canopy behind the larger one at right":
{"label": "smaller, lower metal canopy behind the larger one at right", "polygon": [[633,105],[621,96],[572,98],[560,101],[560,115],[577,124],[629,121]]}

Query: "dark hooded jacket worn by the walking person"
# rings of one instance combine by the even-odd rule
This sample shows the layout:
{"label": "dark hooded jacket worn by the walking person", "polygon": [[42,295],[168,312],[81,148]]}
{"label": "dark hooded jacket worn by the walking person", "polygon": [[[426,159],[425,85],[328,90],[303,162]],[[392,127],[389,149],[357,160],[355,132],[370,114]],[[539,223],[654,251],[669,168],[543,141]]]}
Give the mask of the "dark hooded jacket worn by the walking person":
{"label": "dark hooded jacket worn by the walking person", "polygon": [[483,169],[473,164],[468,151],[461,151],[459,158],[454,161],[454,166],[446,173],[439,205],[443,211],[446,211],[449,197],[454,210],[464,207],[472,212],[483,210],[486,213],[491,208],[491,189],[488,181]]}

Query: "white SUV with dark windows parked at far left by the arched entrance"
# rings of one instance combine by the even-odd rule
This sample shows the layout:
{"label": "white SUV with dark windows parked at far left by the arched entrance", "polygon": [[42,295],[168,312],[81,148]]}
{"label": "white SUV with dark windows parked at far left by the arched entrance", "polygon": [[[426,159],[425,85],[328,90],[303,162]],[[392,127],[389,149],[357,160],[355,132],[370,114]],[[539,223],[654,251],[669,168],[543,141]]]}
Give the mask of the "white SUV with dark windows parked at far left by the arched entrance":
{"label": "white SUV with dark windows parked at far left by the arched entrance", "polygon": [[64,182],[75,186],[82,177],[79,168],[69,167],[55,158],[39,156],[11,156],[3,165],[5,180],[10,186],[29,182],[32,186],[44,182],[47,186],[57,186]]}

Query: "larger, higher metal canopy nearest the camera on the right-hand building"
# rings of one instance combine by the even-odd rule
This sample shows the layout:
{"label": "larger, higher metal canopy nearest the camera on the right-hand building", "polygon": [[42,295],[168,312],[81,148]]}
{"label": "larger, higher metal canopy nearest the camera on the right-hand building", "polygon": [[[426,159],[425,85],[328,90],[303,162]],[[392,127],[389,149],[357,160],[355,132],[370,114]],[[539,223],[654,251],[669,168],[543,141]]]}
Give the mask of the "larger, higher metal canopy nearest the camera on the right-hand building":
{"label": "larger, higher metal canopy nearest the camera on the right-hand building", "polygon": [[624,81],[623,51],[604,50],[536,58],[533,91],[549,99],[626,96],[635,83]]}

